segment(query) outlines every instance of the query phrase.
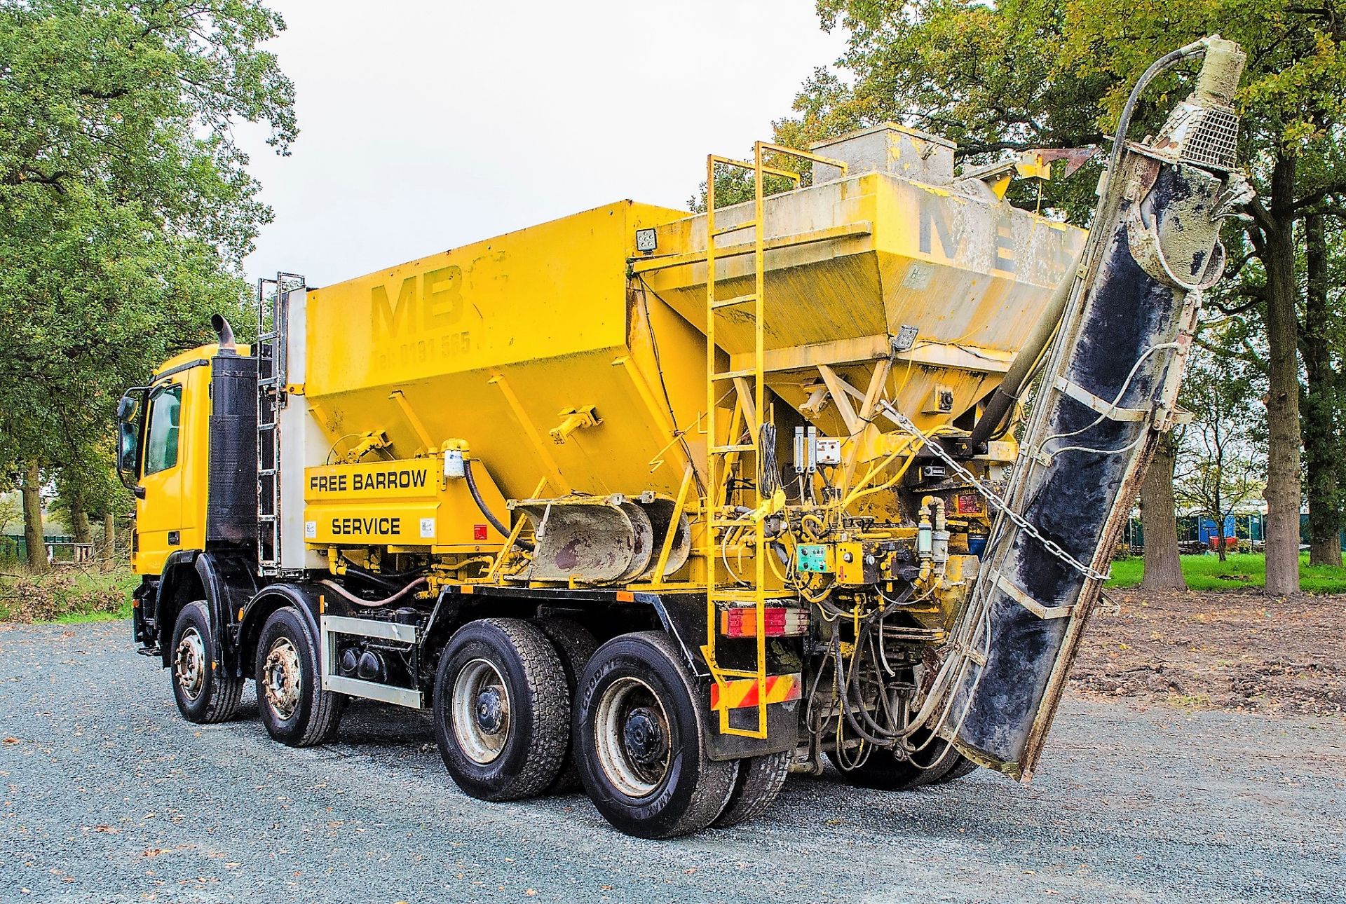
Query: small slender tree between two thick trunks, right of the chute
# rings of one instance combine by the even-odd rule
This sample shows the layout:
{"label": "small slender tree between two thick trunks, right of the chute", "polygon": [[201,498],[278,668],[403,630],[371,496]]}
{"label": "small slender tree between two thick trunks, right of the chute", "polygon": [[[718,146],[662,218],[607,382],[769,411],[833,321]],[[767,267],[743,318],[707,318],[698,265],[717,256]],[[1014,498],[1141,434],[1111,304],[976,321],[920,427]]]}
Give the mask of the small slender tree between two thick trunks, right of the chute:
{"label": "small slender tree between two thick trunks, right of the chute", "polygon": [[[1178,502],[1215,522],[1221,541],[1225,521],[1260,494],[1267,463],[1260,453],[1252,382],[1237,365],[1198,355],[1189,366],[1183,405],[1193,421],[1178,443],[1174,492]],[[1225,561],[1225,543],[1218,543]]]}

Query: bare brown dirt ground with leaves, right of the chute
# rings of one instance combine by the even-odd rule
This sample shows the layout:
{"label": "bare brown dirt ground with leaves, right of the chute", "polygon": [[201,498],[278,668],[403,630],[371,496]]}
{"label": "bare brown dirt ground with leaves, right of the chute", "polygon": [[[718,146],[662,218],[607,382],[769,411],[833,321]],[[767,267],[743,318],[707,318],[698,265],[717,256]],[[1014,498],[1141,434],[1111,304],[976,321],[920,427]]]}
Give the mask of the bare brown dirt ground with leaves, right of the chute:
{"label": "bare brown dirt ground with leaves, right of the chute", "polygon": [[1346,710],[1346,596],[1108,591],[1070,678],[1085,695],[1279,714]]}

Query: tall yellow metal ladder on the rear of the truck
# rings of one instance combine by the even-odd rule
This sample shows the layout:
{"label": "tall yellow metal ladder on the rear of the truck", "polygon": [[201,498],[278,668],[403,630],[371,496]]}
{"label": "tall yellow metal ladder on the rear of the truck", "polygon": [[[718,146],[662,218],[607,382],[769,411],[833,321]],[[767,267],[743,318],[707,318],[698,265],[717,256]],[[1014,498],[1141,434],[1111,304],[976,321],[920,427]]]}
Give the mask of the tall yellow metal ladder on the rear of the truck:
{"label": "tall yellow metal ladder on the rear of the truck", "polygon": [[[794,148],[785,148],[777,144],[758,141],[752,147],[752,160],[734,160],[709,155],[705,160],[705,374],[707,374],[707,496],[701,500],[701,511],[705,513],[705,569],[707,569],[707,601],[705,624],[707,643],[701,647],[711,677],[720,687],[720,700],[727,701],[725,682],[728,679],[752,679],[756,682],[756,728],[735,728],[730,725],[730,708],[721,705],[720,732],[723,735],[738,735],[743,737],[766,737],[766,706],[767,706],[767,674],[766,674],[766,601],[789,596],[781,591],[770,591],[766,580],[766,557],[770,553],[766,545],[766,515],[773,503],[763,499],[756,480],[751,482],[748,491],[750,509],[747,515],[728,517],[721,511],[725,498],[725,482],[734,472],[738,461],[748,455],[754,463],[760,460],[762,424],[767,420],[766,402],[766,375],[765,375],[765,340],[766,340],[766,222],[763,202],[763,180],[767,175],[787,179],[791,187],[798,187],[801,175],[790,170],[781,170],[766,165],[763,157],[767,153],[810,160],[813,163],[836,167],[840,175],[845,175],[845,164],[840,160],[821,157]],[[732,226],[720,227],[716,225],[715,199],[715,170],[717,165],[746,170],[752,174],[752,219]],[[720,299],[715,295],[715,257],[720,239],[731,233],[752,229],[752,269],[754,289],[748,295]],[[743,253],[743,252],[738,252]],[[751,305],[751,308],[750,308]],[[752,366],[731,367],[727,371],[719,370],[715,352],[715,322],[720,312],[730,308],[751,309],[752,317]],[[724,389],[730,383],[731,389]],[[719,422],[716,409],[723,396],[730,391],[735,394],[734,414],[730,424],[723,428]],[[739,436],[747,428],[751,441],[739,443]],[[756,468],[755,468],[756,469]],[[732,574],[725,565],[725,578],[731,582],[721,585],[716,572],[719,562],[727,560],[724,546],[730,537],[742,537],[744,529],[751,529],[752,569],[750,576]],[[738,539],[735,542],[742,542]],[[739,561],[742,557],[736,556]],[[754,669],[721,669],[716,659],[716,636],[719,635],[719,611],[721,605],[743,605],[750,603],[756,619],[756,656]]]}

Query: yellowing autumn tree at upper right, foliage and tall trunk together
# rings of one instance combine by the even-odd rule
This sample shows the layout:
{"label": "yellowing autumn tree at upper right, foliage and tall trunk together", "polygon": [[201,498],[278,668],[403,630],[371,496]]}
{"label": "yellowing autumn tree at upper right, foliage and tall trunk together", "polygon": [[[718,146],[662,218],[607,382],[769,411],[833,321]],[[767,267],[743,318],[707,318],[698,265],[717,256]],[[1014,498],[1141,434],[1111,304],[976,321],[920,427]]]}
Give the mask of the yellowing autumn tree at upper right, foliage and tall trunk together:
{"label": "yellowing autumn tree at upper right, foliage and tall trunk together", "polygon": [[[1346,16],[1335,3],[1298,0],[821,0],[824,27],[844,26],[839,61],[851,78],[816,74],[797,116],[777,139],[824,135],[898,120],[960,141],[964,155],[1098,144],[1131,86],[1158,57],[1219,32],[1248,51],[1240,91],[1241,153],[1260,199],[1240,234],[1228,226],[1241,280],[1238,305],[1260,308],[1267,330],[1267,589],[1299,588],[1300,425],[1296,223],[1346,191],[1343,174],[1304,165],[1346,121]],[[1186,93],[1180,71],[1155,82],[1133,133]],[[1044,204],[1077,222],[1090,206],[1088,180],[1047,188]],[[1250,266],[1249,262],[1256,262]],[[1242,311],[1240,311],[1242,307]],[[1226,312],[1228,313],[1228,312]]]}

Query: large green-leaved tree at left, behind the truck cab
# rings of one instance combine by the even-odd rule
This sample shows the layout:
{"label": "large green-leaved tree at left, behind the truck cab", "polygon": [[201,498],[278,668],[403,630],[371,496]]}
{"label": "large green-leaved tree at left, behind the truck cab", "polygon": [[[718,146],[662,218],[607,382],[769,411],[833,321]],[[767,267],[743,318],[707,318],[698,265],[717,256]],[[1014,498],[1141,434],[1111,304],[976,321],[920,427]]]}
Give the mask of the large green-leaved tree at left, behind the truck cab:
{"label": "large green-leaved tree at left, behind the truck cab", "polygon": [[232,126],[293,140],[260,50],[283,27],[254,0],[0,0],[0,465],[98,495],[121,390],[241,316],[271,211]]}

